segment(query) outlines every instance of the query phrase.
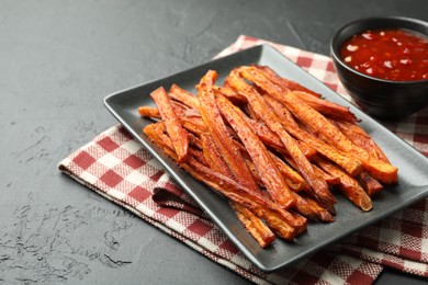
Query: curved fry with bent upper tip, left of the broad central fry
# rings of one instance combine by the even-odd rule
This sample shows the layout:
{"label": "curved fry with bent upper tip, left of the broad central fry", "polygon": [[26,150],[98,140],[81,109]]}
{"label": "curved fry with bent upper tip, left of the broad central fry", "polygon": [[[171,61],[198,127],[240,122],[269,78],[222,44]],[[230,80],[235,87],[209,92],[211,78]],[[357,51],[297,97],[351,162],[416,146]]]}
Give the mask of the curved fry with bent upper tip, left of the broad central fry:
{"label": "curved fry with bent upper tip, left of the broad central fry", "polygon": [[254,191],[258,190],[251,172],[246,167],[239,150],[233,144],[233,139],[223,122],[222,115],[215,103],[213,84],[217,73],[213,70],[206,72],[198,86],[198,98],[200,101],[200,112],[215,145],[230,169],[234,178],[243,185]]}

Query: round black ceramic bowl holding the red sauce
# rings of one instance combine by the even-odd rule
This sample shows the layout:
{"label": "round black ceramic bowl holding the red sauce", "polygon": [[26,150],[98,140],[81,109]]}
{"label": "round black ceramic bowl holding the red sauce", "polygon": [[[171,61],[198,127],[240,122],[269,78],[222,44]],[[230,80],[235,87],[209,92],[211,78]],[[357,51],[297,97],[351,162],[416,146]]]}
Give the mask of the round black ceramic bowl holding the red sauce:
{"label": "round black ceramic bowl holding the red sauce", "polygon": [[403,29],[428,36],[428,23],[419,20],[387,16],[351,22],[336,32],[330,49],[336,71],[356,103],[368,114],[387,119],[407,116],[428,105],[428,80],[391,81],[361,73],[346,65],[339,49],[343,42],[367,30]]}

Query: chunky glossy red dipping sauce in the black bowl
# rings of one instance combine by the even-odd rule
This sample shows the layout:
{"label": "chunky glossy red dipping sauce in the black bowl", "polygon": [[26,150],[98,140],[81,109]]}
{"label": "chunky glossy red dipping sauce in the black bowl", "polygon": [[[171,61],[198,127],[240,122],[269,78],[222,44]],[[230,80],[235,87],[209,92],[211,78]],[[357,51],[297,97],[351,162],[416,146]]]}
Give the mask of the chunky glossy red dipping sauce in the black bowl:
{"label": "chunky glossy red dipping sauce in the black bowl", "polygon": [[428,38],[405,30],[365,31],[341,46],[345,64],[361,73],[393,81],[428,79]]}

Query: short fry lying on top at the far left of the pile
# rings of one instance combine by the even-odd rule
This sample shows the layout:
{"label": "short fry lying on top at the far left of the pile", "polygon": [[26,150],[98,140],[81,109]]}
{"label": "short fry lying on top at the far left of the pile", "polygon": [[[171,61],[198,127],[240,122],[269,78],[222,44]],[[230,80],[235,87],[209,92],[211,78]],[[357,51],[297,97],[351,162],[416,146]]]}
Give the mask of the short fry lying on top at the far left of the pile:
{"label": "short fry lying on top at the far left of the pile", "polygon": [[182,162],[188,157],[188,133],[182,127],[178,116],[176,115],[165,89],[158,88],[151,92],[150,95],[159,109],[161,118],[165,121],[167,133],[171,138],[173,148],[178,155],[178,161]]}

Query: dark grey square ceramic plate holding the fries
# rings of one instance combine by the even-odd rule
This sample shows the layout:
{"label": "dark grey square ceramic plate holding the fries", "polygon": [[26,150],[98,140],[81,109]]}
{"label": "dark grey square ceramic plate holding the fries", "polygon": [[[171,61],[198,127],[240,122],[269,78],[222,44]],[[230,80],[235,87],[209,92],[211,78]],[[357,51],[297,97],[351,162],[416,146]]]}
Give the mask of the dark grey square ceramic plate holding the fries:
{"label": "dark grey square ceramic plate holding the fries", "polygon": [[[140,105],[154,105],[149,93],[160,86],[169,89],[172,83],[178,83],[184,89],[195,91],[194,86],[209,69],[218,72],[217,83],[221,84],[232,68],[250,64],[270,66],[281,76],[322,93],[327,100],[349,106],[362,119],[361,126],[379,142],[392,163],[398,167],[399,184],[387,186],[380,193],[373,201],[373,209],[369,213],[359,210],[338,195],[335,223],[328,225],[311,223],[307,232],[294,242],[277,239],[271,247],[261,249],[240,226],[225,198],[179,169],[147,137],[142,136],[143,127],[151,121],[140,118],[137,112]],[[385,218],[428,194],[428,159],[270,46],[249,48],[154,82],[120,91],[106,96],[104,104],[126,129],[162,163],[178,184],[198,202],[239,250],[262,271],[270,272],[289,265],[362,227]]]}

